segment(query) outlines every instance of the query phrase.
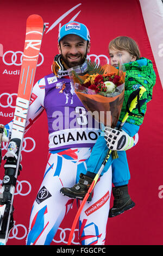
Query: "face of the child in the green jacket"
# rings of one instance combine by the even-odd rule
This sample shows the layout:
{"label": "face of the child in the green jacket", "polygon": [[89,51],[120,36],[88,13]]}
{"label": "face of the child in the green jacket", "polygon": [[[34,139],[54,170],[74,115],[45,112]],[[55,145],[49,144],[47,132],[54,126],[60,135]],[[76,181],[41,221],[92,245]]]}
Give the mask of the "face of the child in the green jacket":
{"label": "face of the child in the green jacket", "polygon": [[128,62],[134,62],[136,60],[136,56],[133,56],[125,50],[120,51],[115,48],[109,48],[109,55],[110,65],[115,67],[118,66],[118,62],[124,64]]}

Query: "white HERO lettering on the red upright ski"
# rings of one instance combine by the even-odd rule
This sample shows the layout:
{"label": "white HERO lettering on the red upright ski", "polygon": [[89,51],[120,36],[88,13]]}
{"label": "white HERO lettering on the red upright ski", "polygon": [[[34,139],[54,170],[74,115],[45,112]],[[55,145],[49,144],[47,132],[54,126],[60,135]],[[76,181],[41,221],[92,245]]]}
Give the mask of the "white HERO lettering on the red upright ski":
{"label": "white HERO lettering on the red upright ski", "polygon": [[24,131],[24,127],[26,125],[26,119],[27,119],[28,105],[29,105],[28,100],[22,99],[21,97],[17,97],[14,121],[12,126],[12,129],[16,130],[17,132]]}

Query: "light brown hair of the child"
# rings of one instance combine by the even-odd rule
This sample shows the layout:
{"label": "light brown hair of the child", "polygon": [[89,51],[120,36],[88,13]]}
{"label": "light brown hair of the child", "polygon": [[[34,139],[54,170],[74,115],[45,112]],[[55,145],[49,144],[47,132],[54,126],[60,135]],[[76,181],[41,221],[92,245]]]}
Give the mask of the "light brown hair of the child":
{"label": "light brown hair of the child", "polygon": [[134,39],[128,36],[118,36],[117,38],[109,42],[109,48],[116,48],[120,51],[127,51],[130,54],[136,56],[136,59],[140,58],[140,50]]}

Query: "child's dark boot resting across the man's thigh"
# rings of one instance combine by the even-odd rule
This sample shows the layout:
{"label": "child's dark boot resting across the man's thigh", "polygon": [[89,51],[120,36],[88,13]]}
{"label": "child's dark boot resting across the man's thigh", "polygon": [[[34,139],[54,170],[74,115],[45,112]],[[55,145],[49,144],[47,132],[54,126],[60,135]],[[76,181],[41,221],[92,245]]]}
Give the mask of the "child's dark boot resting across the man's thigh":
{"label": "child's dark boot resting across the man's thigh", "polygon": [[[71,198],[78,198],[83,200],[89,187],[92,183],[93,179],[83,173],[80,174],[80,179],[77,184],[73,187],[62,187],[60,193],[64,196],[71,197]],[[90,202],[92,200],[92,192],[90,196],[87,198],[87,201]]]}

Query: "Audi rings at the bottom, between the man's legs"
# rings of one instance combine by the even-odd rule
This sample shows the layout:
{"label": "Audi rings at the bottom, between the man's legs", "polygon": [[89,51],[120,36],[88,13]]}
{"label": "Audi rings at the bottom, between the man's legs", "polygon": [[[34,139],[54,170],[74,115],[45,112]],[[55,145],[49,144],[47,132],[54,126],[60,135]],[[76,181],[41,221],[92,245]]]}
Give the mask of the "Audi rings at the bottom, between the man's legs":
{"label": "Audi rings at the bottom, between the man's legs", "polygon": [[[59,231],[60,230],[60,231]],[[69,231],[69,232],[67,232],[67,235],[66,235],[66,231]],[[53,242],[55,242],[55,243],[68,243],[68,237],[69,237],[69,234],[70,234],[70,231],[71,231],[71,228],[65,228],[65,229],[62,229],[62,228],[58,228],[58,231],[57,231],[57,234],[58,234],[58,232],[60,232],[60,240],[54,240],[53,239]],[[79,242],[74,242],[74,239],[75,239],[75,237],[76,237],[76,234],[77,234],[77,237],[78,237],[78,229],[75,229],[74,230],[74,233],[73,233],[73,237],[72,237],[72,243],[74,244],[74,245],[80,245],[80,243]],[[76,233],[76,234],[75,234]]]}

